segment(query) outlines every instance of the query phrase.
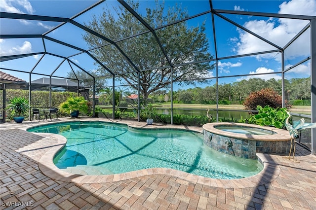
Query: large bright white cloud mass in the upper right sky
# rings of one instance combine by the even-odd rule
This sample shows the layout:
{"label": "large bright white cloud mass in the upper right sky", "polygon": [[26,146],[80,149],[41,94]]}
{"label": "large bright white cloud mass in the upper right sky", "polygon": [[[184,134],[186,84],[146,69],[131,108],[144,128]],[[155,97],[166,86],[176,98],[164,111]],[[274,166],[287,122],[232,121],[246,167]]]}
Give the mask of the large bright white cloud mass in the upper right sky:
{"label": "large bright white cloud mass in the upper right sky", "polygon": [[[281,14],[298,14],[298,15],[316,15],[316,1],[315,0],[291,0],[283,2],[279,6],[280,10],[278,13]],[[266,38],[267,40],[275,43],[280,47],[284,47],[298,32],[304,28],[309,21],[293,20],[293,19],[268,19],[268,20],[251,20],[246,22],[243,26],[250,31]],[[239,33],[239,41],[236,43],[237,54],[247,54],[254,52],[262,52],[266,50],[276,49],[272,45],[265,43],[259,38],[244,32],[241,29],[237,29]],[[306,55],[304,50],[309,45],[309,36],[298,39],[295,45],[295,49],[287,52],[289,58],[296,56]],[[258,55],[257,59],[260,58],[272,58],[272,55]],[[279,57],[275,58],[276,60]]]}

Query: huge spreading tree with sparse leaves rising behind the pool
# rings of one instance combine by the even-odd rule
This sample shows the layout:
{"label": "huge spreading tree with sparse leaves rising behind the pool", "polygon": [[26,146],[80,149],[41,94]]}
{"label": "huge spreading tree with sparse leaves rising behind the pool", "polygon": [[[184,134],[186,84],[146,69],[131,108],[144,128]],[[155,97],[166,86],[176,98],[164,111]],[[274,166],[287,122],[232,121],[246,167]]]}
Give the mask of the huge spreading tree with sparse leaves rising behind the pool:
{"label": "huge spreading tree with sparse leaves rising behind the pool", "polygon": [[[128,4],[153,28],[189,16],[188,11],[178,5],[165,9],[164,3],[158,1],[156,8],[146,9],[146,15],[138,12],[138,2],[128,1]],[[112,37],[117,40],[148,30],[124,7],[119,6],[115,10],[116,14],[113,14],[113,10],[106,9],[100,17],[93,16],[86,26],[105,37]],[[172,65],[213,58],[208,52],[209,46],[204,23],[197,27],[189,27],[184,21],[158,29],[155,32]],[[83,35],[83,38],[91,48],[96,48],[100,44],[108,44],[105,40],[100,40],[89,33]],[[118,42],[118,46],[140,70],[140,92],[145,102],[149,94],[170,85],[171,68],[152,33],[143,33],[125,39]],[[106,64],[108,69],[115,74],[119,74],[118,79],[137,90],[137,70],[118,52],[114,45],[96,48],[92,53],[102,63]],[[207,83],[208,81],[202,78],[213,69],[214,65],[209,62],[177,66],[173,68],[173,81],[181,81],[181,85],[195,84],[195,82]],[[100,73],[104,73],[104,71],[103,68],[99,69]],[[197,79],[197,81],[192,79]]]}

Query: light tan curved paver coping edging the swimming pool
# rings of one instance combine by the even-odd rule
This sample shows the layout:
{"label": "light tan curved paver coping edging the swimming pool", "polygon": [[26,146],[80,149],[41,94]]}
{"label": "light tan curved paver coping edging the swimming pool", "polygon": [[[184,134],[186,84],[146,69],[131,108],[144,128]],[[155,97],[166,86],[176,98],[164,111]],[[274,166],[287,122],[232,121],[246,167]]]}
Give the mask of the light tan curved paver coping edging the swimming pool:
{"label": "light tan curved paver coping edging the swimming pool", "polygon": [[[85,121],[85,120],[78,120],[78,121]],[[102,121],[103,120],[97,120]],[[107,121],[106,121],[107,122]],[[126,124],[129,127],[140,128],[139,126],[131,125],[129,123],[122,123]],[[169,127],[169,126],[168,126]],[[154,129],[155,127],[144,127],[143,129]],[[170,129],[174,127],[169,127]],[[178,128],[176,128],[178,129]],[[181,128],[180,128],[181,129]],[[182,130],[190,130],[190,129],[182,129]],[[197,131],[198,129],[193,128],[192,131]],[[36,133],[36,134],[43,134],[43,133]],[[47,135],[47,133],[45,133]],[[135,177],[141,177],[145,175],[173,175],[177,176],[180,179],[191,181],[200,184],[206,184],[209,186],[214,187],[223,187],[223,188],[246,188],[246,187],[256,187],[259,185],[263,185],[275,180],[278,175],[280,174],[280,168],[276,164],[273,164],[272,158],[268,154],[261,154],[257,153],[258,161],[263,164],[263,170],[253,176],[249,176],[246,178],[239,178],[239,179],[215,179],[215,178],[208,178],[199,175],[193,175],[186,172],[174,170],[174,169],[167,169],[167,168],[152,168],[152,169],[143,169],[138,171],[132,171],[122,174],[114,174],[114,175],[77,175],[65,172],[53,163],[53,158],[55,154],[60,151],[67,142],[67,139],[58,134],[49,134],[51,138],[57,140],[57,142],[52,145],[52,147],[42,155],[39,160],[39,168],[40,171],[55,180],[59,181],[66,181],[66,182],[74,182],[74,183],[103,183],[103,182],[112,182],[112,181],[121,181]]]}

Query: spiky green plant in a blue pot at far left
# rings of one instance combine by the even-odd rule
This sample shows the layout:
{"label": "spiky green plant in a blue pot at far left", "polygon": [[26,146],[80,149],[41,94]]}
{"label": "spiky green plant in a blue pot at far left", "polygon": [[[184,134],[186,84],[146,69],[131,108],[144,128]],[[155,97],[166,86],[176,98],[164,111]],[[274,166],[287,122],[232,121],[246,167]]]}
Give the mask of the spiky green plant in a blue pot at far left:
{"label": "spiky green plant in a blue pot at far left", "polygon": [[22,123],[24,120],[22,115],[27,112],[29,108],[29,100],[23,97],[14,97],[9,101],[5,109],[11,111],[12,115],[17,115],[17,117],[13,117],[16,123]]}

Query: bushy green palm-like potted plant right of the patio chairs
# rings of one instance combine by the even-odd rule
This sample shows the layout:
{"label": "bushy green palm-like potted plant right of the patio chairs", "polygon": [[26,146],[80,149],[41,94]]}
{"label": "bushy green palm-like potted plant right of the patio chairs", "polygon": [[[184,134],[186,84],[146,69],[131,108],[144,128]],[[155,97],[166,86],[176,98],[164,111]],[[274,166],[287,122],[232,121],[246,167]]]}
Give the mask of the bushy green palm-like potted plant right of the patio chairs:
{"label": "bushy green palm-like potted plant right of the patio chairs", "polygon": [[88,112],[87,102],[82,96],[69,97],[66,102],[59,105],[59,110],[65,114],[70,114],[71,117],[78,117],[79,112]]}

